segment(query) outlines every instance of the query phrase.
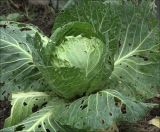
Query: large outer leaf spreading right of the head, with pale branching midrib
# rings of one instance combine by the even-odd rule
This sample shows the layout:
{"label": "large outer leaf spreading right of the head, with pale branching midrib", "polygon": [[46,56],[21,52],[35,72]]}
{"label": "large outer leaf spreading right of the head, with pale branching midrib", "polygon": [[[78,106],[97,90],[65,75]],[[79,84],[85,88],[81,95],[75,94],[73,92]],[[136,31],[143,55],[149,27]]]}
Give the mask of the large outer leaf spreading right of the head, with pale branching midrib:
{"label": "large outer leaf spreading right of the head, with pale branching midrib", "polygon": [[111,75],[117,90],[143,99],[160,92],[160,32],[150,5],[142,1],[117,6],[121,33]]}

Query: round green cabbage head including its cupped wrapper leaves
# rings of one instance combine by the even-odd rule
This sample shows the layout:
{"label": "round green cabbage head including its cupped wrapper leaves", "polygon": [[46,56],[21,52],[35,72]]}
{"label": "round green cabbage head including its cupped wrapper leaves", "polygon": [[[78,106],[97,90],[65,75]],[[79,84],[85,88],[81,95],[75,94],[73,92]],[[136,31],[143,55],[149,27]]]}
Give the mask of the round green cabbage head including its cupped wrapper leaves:
{"label": "round green cabbage head including its cupped wrapper leaves", "polygon": [[107,85],[113,63],[106,50],[107,43],[89,24],[67,24],[52,35],[39,69],[56,94],[78,98]]}

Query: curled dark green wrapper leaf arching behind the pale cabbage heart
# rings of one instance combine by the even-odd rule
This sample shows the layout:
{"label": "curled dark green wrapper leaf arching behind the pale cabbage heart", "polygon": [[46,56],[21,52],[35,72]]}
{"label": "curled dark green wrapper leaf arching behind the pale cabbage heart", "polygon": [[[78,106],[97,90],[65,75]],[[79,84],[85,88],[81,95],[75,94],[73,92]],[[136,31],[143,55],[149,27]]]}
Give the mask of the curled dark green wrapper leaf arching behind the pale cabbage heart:
{"label": "curled dark green wrapper leaf arching behind the pale cabbage heart", "polygon": [[[57,18],[58,19],[58,18]],[[59,25],[60,26],[60,25]],[[104,40],[101,33],[97,33],[94,30],[94,26],[88,22],[68,22],[64,23],[64,25],[61,25],[60,27],[56,28],[56,30],[51,35],[52,43],[55,43],[56,45],[59,45],[62,43],[66,36],[78,36],[82,35],[85,37],[97,37],[101,40]]]}

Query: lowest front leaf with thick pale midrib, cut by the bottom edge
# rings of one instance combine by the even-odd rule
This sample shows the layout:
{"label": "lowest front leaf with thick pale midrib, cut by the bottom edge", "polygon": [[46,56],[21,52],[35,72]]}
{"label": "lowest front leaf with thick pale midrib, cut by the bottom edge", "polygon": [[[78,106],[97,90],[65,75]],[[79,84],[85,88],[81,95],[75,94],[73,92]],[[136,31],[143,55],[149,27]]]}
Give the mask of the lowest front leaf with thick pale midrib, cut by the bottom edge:
{"label": "lowest front leaf with thick pale midrib, cut by the bottom edge", "polygon": [[74,131],[74,132],[80,132],[78,130],[72,129],[68,126],[62,126],[60,123],[56,122],[54,120],[53,116],[53,110],[54,106],[47,106],[41,110],[39,110],[36,113],[33,113],[30,117],[22,121],[21,123],[12,126],[7,127],[0,132],[15,132],[15,131],[21,131],[21,132],[37,132],[37,131],[43,131],[43,132],[68,132],[68,131]]}

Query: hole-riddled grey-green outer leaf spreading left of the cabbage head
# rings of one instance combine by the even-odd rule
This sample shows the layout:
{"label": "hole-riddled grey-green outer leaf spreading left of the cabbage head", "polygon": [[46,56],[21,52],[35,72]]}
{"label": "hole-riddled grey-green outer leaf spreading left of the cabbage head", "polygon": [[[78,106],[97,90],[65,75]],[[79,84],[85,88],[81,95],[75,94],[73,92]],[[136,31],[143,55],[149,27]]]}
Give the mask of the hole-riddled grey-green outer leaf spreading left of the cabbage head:
{"label": "hole-riddled grey-green outer leaf spreading left of the cabbage head", "polygon": [[39,32],[44,46],[48,38],[34,26],[17,22],[0,22],[0,99],[6,99],[9,91],[40,89],[46,87],[41,73],[32,58],[32,44]]}

